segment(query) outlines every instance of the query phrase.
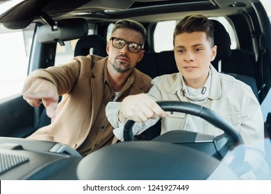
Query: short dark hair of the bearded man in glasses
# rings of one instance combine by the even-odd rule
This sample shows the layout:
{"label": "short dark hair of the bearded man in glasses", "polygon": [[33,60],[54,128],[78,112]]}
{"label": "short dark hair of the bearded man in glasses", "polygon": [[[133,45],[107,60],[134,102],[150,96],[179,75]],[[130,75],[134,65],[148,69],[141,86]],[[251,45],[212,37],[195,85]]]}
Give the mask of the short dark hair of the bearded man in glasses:
{"label": "short dark hair of the bearded man in glasses", "polygon": [[118,28],[129,28],[131,30],[136,30],[139,33],[141,33],[142,38],[143,38],[143,44],[146,40],[146,29],[145,27],[140,24],[138,21],[134,21],[132,19],[120,19],[119,21],[117,21],[115,23],[115,26],[112,30],[112,33],[115,32],[115,30],[117,30]]}

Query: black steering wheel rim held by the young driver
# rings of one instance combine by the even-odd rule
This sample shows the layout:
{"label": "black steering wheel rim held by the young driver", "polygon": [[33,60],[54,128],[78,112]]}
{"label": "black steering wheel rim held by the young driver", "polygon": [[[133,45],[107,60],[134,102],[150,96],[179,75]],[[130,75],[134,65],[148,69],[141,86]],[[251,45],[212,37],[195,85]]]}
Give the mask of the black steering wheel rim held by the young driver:
{"label": "black steering wheel rim held by the young driver", "polygon": [[[211,109],[193,103],[181,101],[158,101],[157,104],[160,105],[164,111],[183,112],[186,114],[199,116],[200,118],[204,118],[204,120],[208,121],[208,123],[211,123],[215,127],[223,130],[224,134],[215,137],[215,141],[222,141],[222,139],[226,139],[227,148],[221,148],[222,152],[224,153],[227,153],[229,150],[240,145],[238,146],[238,150],[233,152],[234,159],[231,165],[235,166],[236,164],[243,163],[245,159],[245,148],[242,144],[244,144],[244,141],[233,125],[231,125],[231,123],[229,123],[229,121],[227,121],[225,118],[213,112]],[[133,141],[132,128],[134,123],[135,121],[129,120],[124,124],[124,141]],[[225,145],[222,146],[224,147]],[[217,152],[218,150],[219,149],[217,149]],[[225,154],[219,153],[219,155],[224,157]]]}

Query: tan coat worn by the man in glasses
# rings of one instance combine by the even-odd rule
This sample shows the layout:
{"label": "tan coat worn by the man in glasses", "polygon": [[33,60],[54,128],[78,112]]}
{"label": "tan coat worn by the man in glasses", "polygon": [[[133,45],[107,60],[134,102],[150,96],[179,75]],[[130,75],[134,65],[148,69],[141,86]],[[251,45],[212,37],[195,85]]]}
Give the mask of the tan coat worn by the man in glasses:
{"label": "tan coat worn by the man in glasses", "polygon": [[[33,71],[31,76],[44,78],[57,86],[64,95],[58,104],[56,117],[28,138],[56,141],[79,148],[85,141],[99,112],[104,93],[104,68],[106,58],[95,55],[79,56],[61,67]],[[133,84],[130,95],[146,93],[151,88],[151,78],[137,69],[131,73]]]}

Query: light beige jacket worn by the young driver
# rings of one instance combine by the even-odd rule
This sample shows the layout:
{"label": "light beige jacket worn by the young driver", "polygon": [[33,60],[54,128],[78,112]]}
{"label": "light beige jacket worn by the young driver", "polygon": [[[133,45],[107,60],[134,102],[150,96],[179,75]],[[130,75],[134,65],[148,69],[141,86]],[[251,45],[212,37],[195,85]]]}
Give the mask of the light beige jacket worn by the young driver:
{"label": "light beige jacket worn by the young driver", "polygon": [[[254,95],[252,89],[244,82],[236,80],[232,76],[224,73],[218,73],[211,65],[211,87],[208,95],[208,100],[204,107],[208,107],[217,112],[234,125],[236,130],[243,137],[247,148],[256,150],[255,168],[261,166],[261,160],[264,155],[264,131],[263,131],[263,116],[261,107]],[[156,100],[181,100],[189,102],[188,98],[183,95],[181,74],[173,73],[170,75],[159,76],[152,80],[153,87],[149,90],[149,96]],[[119,104],[108,103],[106,107],[106,114],[108,121],[115,127],[115,136],[122,139],[123,125],[117,122]],[[162,118],[162,132],[169,130],[183,130],[186,126],[187,114],[179,112],[166,112],[167,116]],[[158,121],[158,119],[156,119]],[[145,123],[135,123],[133,132],[139,134],[146,130],[149,126],[153,125],[156,121],[147,121]],[[120,127],[119,127],[120,125]],[[209,134],[218,135],[222,134],[222,130],[215,128],[213,125],[204,121],[205,128]],[[249,156],[246,156],[249,157]],[[255,157],[253,155],[252,157]],[[250,159],[249,159],[250,160]],[[253,161],[252,161],[253,163]],[[256,169],[255,169],[256,170]]]}

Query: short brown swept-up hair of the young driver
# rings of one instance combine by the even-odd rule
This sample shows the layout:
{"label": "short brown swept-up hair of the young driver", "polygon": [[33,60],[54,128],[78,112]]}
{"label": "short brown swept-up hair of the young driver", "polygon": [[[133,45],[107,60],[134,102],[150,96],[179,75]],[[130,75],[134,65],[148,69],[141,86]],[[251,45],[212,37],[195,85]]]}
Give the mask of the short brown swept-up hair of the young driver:
{"label": "short brown swept-up hair of the young driver", "polygon": [[213,40],[213,21],[208,19],[204,15],[187,15],[183,17],[174,29],[173,34],[173,45],[175,42],[176,35],[181,33],[195,33],[195,32],[204,32],[206,36],[211,41],[211,46],[214,46]]}

